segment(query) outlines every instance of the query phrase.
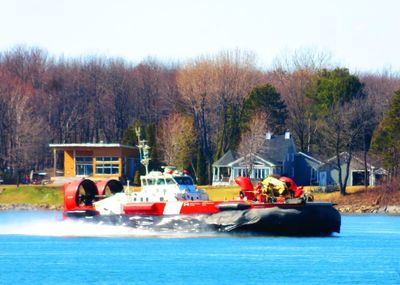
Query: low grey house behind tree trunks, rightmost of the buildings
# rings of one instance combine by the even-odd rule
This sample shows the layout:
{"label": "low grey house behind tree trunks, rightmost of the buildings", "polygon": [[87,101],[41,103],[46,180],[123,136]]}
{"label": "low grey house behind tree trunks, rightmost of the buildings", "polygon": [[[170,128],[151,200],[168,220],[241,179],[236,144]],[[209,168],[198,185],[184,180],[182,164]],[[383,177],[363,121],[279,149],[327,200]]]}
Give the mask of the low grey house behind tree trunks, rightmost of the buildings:
{"label": "low grey house behind tree trunks, rightmost of the buildings", "polygon": [[[340,154],[340,171],[342,172],[342,179],[344,179],[346,175],[346,161],[348,155],[349,154],[347,152],[342,152]],[[387,176],[387,171],[385,169],[381,167],[376,167],[371,163],[367,163],[367,169],[368,185],[377,185],[384,179],[385,176]],[[364,174],[364,160],[358,158],[357,156],[352,156],[349,168],[349,178],[347,180],[346,186],[364,185]],[[319,167],[318,184],[322,187],[328,185],[339,185],[339,168],[337,166],[336,156],[328,159],[324,164]]]}

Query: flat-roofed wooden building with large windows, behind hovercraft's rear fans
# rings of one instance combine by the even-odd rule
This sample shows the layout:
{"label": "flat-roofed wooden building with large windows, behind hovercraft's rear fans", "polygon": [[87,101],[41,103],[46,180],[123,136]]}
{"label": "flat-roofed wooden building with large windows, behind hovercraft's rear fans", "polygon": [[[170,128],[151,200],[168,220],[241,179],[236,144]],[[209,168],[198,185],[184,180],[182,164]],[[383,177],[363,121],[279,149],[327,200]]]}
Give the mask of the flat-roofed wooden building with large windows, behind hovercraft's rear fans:
{"label": "flat-roofed wooden building with large windows, behind hovercraft's rear fans", "polygon": [[138,169],[139,152],[136,147],[117,143],[50,144],[54,158],[63,153],[63,174],[66,177],[123,178],[133,181]]}

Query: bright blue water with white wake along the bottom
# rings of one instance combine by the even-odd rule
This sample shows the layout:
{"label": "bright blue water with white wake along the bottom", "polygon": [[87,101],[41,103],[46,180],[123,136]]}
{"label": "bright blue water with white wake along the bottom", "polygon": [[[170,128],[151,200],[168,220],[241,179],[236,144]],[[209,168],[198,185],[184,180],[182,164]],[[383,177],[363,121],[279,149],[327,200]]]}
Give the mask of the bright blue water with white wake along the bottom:
{"label": "bright blue water with white wake along the bottom", "polygon": [[0,284],[400,284],[400,217],[324,238],[154,233],[0,212]]}

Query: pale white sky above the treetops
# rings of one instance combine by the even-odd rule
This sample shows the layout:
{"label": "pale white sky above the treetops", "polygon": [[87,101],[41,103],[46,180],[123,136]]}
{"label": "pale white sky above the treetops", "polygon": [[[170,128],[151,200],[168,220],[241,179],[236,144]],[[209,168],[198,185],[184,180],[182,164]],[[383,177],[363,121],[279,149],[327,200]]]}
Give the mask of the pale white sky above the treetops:
{"label": "pale white sky above the treetops", "polygon": [[353,72],[400,71],[398,0],[0,0],[0,51],[185,62],[240,49],[260,66],[299,50]]}

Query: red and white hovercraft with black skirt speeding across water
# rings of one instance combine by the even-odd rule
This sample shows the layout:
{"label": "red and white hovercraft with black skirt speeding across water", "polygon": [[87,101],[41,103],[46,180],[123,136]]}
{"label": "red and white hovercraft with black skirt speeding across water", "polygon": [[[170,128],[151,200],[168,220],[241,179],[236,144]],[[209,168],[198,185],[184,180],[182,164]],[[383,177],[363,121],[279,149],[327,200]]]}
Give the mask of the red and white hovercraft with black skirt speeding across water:
{"label": "red and white hovercraft with black skirt speeding across water", "polygon": [[340,232],[341,217],[332,203],[314,202],[288,177],[267,177],[256,188],[237,177],[239,197],[211,201],[179,171],[150,172],[142,190],[132,192],[114,179],[80,179],[64,185],[64,216],[136,228],[321,236]]}

